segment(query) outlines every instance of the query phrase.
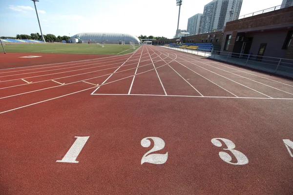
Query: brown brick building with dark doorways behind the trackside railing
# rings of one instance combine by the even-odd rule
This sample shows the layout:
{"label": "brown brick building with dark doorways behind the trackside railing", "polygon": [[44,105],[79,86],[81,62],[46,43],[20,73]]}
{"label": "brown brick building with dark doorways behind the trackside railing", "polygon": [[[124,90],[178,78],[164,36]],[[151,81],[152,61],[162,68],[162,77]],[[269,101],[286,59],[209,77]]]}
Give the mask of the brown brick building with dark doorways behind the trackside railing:
{"label": "brown brick building with dark doorways behind the trackside railing", "polygon": [[[188,36],[183,42],[209,42],[214,50],[293,59],[293,6],[227,22],[223,31]],[[176,39],[153,41],[153,44]]]}

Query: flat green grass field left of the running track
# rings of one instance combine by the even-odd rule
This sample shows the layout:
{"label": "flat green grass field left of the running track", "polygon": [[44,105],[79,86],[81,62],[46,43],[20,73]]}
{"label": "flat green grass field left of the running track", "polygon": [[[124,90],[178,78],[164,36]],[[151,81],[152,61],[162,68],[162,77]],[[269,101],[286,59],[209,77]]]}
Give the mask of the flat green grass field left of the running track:
{"label": "flat green grass field left of the running track", "polygon": [[[136,46],[136,49],[139,46]],[[52,54],[127,54],[134,50],[129,49],[129,45],[105,44],[105,47],[97,47],[93,44],[75,43],[27,43],[27,44],[7,44],[4,48],[7,53],[52,53]],[[1,48],[2,49],[2,48]]]}

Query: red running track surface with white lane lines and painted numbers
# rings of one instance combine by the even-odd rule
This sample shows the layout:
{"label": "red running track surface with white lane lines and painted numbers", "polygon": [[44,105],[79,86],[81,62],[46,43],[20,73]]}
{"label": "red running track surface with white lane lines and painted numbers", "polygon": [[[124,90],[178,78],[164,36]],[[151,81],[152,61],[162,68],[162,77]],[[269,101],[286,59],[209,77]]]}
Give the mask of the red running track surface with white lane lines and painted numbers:
{"label": "red running track surface with white lane lines and painted numbers", "polygon": [[293,81],[156,46],[0,70],[0,194],[291,195],[292,116]]}

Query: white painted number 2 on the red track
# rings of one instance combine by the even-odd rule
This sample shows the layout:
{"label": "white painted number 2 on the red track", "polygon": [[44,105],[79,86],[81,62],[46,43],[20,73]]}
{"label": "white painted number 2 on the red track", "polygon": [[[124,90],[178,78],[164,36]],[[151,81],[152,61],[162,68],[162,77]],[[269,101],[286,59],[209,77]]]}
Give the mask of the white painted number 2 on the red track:
{"label": "white painted number 2 on the red track", "polygon": [[165,141],[160,137],[145,137],[141,140],[141,145],[145,148],[150,146],[150,140],[154,141],[154,147],[149,150],[143,157],[141,164],[147,162],[152,164],[164,164],[167,161],[168,153],[166,154],[151,154],[152,152],[156,152],[162,150],[165,147]]}

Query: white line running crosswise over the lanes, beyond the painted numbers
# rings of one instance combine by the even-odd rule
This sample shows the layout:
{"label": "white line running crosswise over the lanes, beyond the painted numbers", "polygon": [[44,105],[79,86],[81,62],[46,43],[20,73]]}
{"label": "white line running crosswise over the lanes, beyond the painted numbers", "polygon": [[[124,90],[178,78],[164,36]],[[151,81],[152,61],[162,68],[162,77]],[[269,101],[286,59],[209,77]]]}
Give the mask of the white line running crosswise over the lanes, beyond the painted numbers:
{"label": "white line running crosswise over the lanes, beyond the painted numbers", "polygon": [[186,98],[232,98],[232,99],[284,99],[293,100],[293,98],[249,98],[249,97],[225,97],[225,96],[180,96],[180,95],[156,95],[156,94],[93,94],[97,96],[160,96],[160,97],[186,97]]}

